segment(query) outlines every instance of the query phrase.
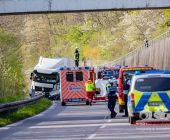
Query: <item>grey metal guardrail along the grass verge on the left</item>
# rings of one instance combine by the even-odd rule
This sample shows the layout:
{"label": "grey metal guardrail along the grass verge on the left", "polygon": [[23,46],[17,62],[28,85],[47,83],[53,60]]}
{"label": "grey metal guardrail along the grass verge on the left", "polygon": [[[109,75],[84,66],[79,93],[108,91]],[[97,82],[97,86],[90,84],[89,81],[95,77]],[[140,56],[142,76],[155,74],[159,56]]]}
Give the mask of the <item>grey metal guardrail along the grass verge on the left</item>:
{"label": "grey metal guardrail along the grass verge on the left", "polygon": [[25,100],[21,100],[21,101],[1,104],[0,105],[0,113],[1,114],[13,113],[13,112],[17,111],[19,108],[27,106],[27,105],[34,104],[34,103],[40,101],[43,98],[44,98],[44,94],[38,95],[38,96],[36,96],[34,98],[30,98],[30,99],[25,99]]}

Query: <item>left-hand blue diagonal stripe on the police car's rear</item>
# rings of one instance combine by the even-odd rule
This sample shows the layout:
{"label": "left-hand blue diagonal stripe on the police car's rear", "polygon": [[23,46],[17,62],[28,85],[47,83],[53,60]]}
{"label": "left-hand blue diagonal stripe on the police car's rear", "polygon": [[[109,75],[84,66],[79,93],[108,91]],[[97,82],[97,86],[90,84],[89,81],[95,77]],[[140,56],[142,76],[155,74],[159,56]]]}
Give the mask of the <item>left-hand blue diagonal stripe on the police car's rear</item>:
{"label": "left-hand blue diagonal stripe on the police car's rear", "polygon": [[136,111],[142,111],[144,110],[145,105],[149,101],[149,98],[151,97],[152,93],[143,93],[142,97],[140,98],[135,110]]}

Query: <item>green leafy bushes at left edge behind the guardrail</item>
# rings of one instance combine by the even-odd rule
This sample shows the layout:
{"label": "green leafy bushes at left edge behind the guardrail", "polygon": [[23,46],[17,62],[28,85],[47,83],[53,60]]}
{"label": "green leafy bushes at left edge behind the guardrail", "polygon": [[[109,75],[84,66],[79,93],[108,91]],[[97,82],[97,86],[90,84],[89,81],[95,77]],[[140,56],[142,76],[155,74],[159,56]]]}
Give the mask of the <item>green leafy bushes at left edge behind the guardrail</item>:
{"label": "green leafy bushes at left edge behind the guardrail", "polygon": [[[22,59],[18,37],[0,29],[0,100],[4,99],[3,103],[26,98],[28,94]],[[2,98],[6,96],[11,98]]]}

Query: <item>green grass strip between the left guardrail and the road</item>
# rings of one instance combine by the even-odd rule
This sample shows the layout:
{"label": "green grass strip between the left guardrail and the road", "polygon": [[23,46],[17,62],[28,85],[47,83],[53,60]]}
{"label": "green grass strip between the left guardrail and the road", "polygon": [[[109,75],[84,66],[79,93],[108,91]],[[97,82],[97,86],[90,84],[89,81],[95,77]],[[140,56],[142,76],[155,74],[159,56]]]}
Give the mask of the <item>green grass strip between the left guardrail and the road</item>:
{"label": "green grass strip between the left guardrail and the road", "polygon": [[51,101],[44,98],[36,104],[20,108],[16,113],[9,115],[0,115],[0,126],[5,126],[7,124],[17,122],[27,117],[34,116],[47,109],[50,105]]}

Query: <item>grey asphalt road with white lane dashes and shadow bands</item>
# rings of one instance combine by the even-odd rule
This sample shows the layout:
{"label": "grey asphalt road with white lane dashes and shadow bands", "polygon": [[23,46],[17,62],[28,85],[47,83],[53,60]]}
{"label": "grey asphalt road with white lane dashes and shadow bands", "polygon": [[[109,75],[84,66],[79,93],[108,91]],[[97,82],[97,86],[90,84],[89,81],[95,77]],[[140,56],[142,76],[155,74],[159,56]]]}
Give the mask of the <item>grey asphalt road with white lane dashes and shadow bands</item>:
{"label": "grey asphalt road with white lane dashes and shadow bands", "polygon": [[143,124],[130,125],[128,118],[123,118],[122,115],[118,113],[116,118],[111,119],[104,102],[94,103],[92,106],[75,103],[63,107],[60,101],[54,101],[46,111],[0,128],[0,140],[157,140],[170,137],[169,124],[147,125],[146,120],[143,120]]}

